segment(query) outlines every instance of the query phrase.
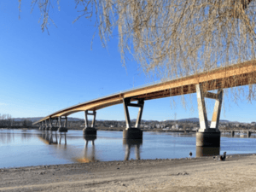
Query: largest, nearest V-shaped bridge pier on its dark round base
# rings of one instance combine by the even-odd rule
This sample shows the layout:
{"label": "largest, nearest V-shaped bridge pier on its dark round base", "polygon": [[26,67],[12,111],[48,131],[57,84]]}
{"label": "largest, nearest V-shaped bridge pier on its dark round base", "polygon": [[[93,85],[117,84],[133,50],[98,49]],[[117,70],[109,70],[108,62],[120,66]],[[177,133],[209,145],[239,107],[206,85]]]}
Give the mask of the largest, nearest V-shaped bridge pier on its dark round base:
{"label": "largest, nearest V-shaped bridge pier on its dark round base", "polygon": [[[223,99],[223,90],[218,89],[218,93],[203,90],[202,84],[196,84],[196,94],[198,102],[198,112],[200,129],[196,132],[196,147],[220,147],[220,131],[218,123]],[[212,114],[212,122],[209,127],[207,120],[207,109],[205,98],[215,99],[215,106]]]}

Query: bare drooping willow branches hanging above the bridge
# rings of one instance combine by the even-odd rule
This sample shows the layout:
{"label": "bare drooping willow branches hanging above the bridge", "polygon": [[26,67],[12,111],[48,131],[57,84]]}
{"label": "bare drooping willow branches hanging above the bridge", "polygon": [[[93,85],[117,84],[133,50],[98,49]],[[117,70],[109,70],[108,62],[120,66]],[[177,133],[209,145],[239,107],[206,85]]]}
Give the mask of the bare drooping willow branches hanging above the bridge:
{"label": "bare drooping willow branches hanging above the bridge", "polygon": [[[118,29],[123,64],[132,55],[149,77],[174,79],[255,59],[253,0],[73,1],[81,13],[74,21],[94,17],[104,45]],[[32,0],[43,31],[59,3]]]}

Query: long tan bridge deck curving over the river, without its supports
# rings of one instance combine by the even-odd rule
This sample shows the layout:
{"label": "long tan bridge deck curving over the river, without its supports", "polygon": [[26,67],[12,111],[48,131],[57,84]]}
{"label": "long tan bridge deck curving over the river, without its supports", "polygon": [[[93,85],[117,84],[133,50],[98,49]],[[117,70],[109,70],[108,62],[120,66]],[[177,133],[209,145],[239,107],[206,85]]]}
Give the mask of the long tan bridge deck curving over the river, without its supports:
{"label": "long tan bridge deck curving over the river, without its supports", "polygon": [[229,67],[220,67],[206,73],[198,73],[188,77],[173,79],[159,84],[152,84],[142,88],[120,92],[112,96],[105,96],[90,102],[80,103],[70,108],[64,108],[49,114],[33,125],[45,119],[67,116],[85,110],[99,110],[123,102],[123,98],[131,97],[131,101],[139,98],[151,100],[166,96],[179,96],[195,93],[195,84],[203,84],[205,90],[230,88],[256,83],[256,61],[246,61]]}

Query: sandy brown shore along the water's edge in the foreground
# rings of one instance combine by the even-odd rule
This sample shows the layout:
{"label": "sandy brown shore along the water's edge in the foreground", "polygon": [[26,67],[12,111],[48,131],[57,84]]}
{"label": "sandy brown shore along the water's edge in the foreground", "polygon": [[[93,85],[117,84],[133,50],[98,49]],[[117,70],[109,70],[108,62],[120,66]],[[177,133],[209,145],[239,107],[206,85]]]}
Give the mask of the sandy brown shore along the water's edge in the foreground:
{"label": "sandy brown shore along the water's edge in the foreground", "polygon": [[256,191],[256,155],[0,169],[0,191]]}

